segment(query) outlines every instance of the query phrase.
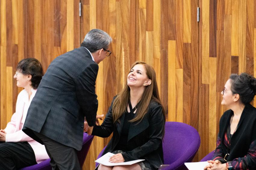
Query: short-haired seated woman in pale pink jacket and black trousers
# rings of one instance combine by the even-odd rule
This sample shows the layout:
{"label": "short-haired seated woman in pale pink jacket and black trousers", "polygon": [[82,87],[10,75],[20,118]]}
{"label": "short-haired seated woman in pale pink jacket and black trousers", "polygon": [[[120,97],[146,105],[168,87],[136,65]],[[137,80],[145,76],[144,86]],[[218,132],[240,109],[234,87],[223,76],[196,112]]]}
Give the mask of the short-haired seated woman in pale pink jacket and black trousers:
{"label": "short-haired seated woman in pale pink jacket and black trousers", "polygon": [[20,169],[49,159],[44,145],[22,131],[27,110],[42,76],[42,65],[37,59],[25,58],[18,63],[14,79],[17,86],[24,89],[17,97],[16,112],[11,121],[4,130],[0,130],[0,169]]}

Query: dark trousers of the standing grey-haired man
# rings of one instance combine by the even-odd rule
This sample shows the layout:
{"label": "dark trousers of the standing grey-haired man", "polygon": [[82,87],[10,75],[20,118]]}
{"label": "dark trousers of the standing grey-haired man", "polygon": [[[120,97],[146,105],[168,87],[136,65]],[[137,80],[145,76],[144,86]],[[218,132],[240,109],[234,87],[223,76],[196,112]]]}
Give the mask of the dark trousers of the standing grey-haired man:
{"label": "dark trousers of the standing grey-haired man", "polygon": [[51,158],[50,164],[52,166],[52,170],[81,169],[76,154],[77,151],[74,148],[56,142],[41,133],[33,132],[43,141],[46,152]]}

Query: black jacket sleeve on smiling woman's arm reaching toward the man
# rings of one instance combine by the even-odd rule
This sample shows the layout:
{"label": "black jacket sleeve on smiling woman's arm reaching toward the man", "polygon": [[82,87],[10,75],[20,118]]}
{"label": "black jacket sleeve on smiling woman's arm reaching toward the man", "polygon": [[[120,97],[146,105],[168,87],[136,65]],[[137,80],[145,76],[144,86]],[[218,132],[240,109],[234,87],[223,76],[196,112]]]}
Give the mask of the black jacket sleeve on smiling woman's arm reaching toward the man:
{"label": "black jacket sleeve on smiling woman's arm reaching toward the man", "polygon": [[114,124],[113,124],[113,117],[112,117],[112,106],[113,106],[114,100],[115,100],[115,97],[112,100],[111,106],[108,109],[108,113],[103,123],[100,126],[95,125],[93,127],[92,135],[99,136],[102,138],[107,138],[113,132]]}

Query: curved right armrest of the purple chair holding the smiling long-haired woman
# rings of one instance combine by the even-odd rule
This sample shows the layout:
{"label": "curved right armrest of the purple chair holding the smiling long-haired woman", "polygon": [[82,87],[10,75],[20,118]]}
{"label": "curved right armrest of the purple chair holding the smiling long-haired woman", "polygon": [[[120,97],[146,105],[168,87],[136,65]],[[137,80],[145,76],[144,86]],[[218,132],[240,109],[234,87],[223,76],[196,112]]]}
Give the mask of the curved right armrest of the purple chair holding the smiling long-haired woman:
{"label": "curved right armrest of the purple chair holding the smiling long-haired woman", "polygon": [[[193,149],[193,147],[197,145],[197,149]],[[194,139],[191,141],[190,146],[187,148],[186,152],[183,153],[183,157],[180,157],[175,162],[171,163],[169,166],[165,167],[164,170],[187,170],[186,166],[184,165],[185,162],[191,162],[192,159],[195,157],[195,154],[200,146],[200,138]],[[186,155],[191,155],[189,158],[186,158]]]}

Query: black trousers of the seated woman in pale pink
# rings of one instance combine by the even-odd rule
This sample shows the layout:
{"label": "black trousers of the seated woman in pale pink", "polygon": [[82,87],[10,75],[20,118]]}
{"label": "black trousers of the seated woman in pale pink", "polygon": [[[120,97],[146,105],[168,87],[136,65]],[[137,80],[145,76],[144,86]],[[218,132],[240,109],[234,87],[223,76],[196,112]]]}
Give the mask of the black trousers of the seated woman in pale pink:
{"label": "black trousers of the seated woman in pale pink", "polygon": [[13,170],[35,164],[35,153],[28,142],[0,143],[0,169]]}

